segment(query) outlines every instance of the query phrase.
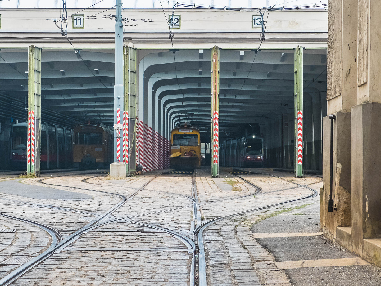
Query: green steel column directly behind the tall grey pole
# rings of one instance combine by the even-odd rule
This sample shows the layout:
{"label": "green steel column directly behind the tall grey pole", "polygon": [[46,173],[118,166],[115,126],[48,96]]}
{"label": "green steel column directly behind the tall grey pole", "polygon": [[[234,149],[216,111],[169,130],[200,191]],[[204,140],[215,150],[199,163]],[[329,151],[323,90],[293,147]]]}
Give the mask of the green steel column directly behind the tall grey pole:
{"label": "green steel column directly behind the tall grey pole", "polygon": [[128,112],[128,172],[136,172],[136,49],[125,47],[124,50],[124,104]]}

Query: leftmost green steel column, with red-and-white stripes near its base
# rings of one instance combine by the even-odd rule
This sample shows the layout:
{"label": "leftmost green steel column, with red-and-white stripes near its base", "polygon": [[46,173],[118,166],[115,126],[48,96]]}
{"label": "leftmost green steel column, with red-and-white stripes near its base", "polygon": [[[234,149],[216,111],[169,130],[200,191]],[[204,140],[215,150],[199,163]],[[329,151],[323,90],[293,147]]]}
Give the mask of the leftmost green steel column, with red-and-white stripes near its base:
{"label": "leftmost green steel column, with red-and-white stripes near its base", "polygon": [[[30,138],[30,155],[27,152],[27,174],[40,175],[41,49],[31,45],[28,54],[28,125],[33,129],[31,135],[34,136]],[[30,119],[29,113],[34,115],[30,116]],[[34,119],[34,122],[30,122],[31,119]]]}

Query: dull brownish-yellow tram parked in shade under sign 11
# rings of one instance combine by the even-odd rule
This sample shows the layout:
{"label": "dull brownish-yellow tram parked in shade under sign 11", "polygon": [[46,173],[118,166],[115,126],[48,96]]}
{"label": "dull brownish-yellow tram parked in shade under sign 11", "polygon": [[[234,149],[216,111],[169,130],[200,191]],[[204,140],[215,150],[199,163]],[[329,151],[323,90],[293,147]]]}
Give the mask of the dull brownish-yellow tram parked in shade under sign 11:
{"label": "dull brownish-yellow tram parked in shade under sign 11", "polygon": [[74,128],[73,166],[104,167],[113,161],[112,130],[99,125]]}

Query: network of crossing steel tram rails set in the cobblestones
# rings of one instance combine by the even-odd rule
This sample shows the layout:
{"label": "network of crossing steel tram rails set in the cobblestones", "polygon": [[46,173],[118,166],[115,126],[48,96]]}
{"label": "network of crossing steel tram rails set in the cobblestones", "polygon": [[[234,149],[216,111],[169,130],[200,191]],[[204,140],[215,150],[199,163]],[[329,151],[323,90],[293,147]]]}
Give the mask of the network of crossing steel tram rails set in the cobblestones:
{"label": "network of crossing steel tram rails set in the cobblestones", "polygon": [[[205,263],[205,248],[204,248],[204,245],[203,245],[203,231],[207,227],[209,227],[213,223],[219,222],[219,221],[224,220],[224,219],[233,218],[233,217],[236,217],[236,216],[239,216],[239,215],[247,214],[247,213],[250,213],[250,212],[255,212],[255,211],[258,211],[258,210],[267,209],[267,208],[270,208],[270,207],[280,206],[280,205],[283,205],[283,204],[287,204],[287,203],[290,203],[290,202],[295,202],[295,201],[307,199],[307,198],[310,198],[312,196],[317,195],[317,192],[315,190],[313,190],[312,188],[309,188],[307,185],[301,185],[301,184],[298,184],[298,183],[286,180],[287,182],[293,183],[293,184],[297,185],[298,187],[307,188],[307,189],[311,190],[313,193],[308,195],[308,196],[305,196],[303,198],[292,199],[292,200],[288,200],[288,201],[284,201],[284,202],[279,202],[279,203],[276,203],[276,204],[270,204],[270,205],[266,205],[266,206],[262,206],[262,207],[257,207],[257,208],[254,208],[254,209],[245,210],[245,211],[237,212],[237,213],[234,213],[234,214],[220,216],[220,217],[217,217],[215,219],[209,220],[208,222],[202,222],[202,220],[201,220],[201,207],[202,206],[205,206],[207,204],[213,204],[213,203],[216,203],[216,202],[229,201],[229,200],[234,200],[234,199],[242,199],[242,198],[245,198],[245,197],[253,196],[255,194],[260,194],[262,192],[262,189],[260,187],[256,186],[256,185],[254,185],[253,183],[249,182],[245,178],[242,178],[239,175],[235,175],[234,174],[235,177],[239,178],[240,180],[242,180],[245,183],[249,184],[251,187],[255,188],[255,192],[247,194],[245,196],[239,196],[239,197],[236,196],[234,198],[230,197],[230,198],[226,198],[226,199],[220,199],[220,200],[216,200],[216,201],[200,203],[198,195],[197,195],[197,186],[196,186],[195,174],[192,175],[192,191],[191,191],[191,196],[187,196],[187,195],[184,195],[184,194],[173,193],[173,192],[165,192],[165,191],[145,189],[145,187],[147,185],[149,185],[149,183],[151,183],[155,178],[159,177],[160,175],[161,174],[156,175],[154,178],[150,179],[148,182],[146,182],[140,188],[133,188],[134,192],[129,194],[128,196],[123,196],[121,194],[111,193],[111,192],[107,192],[107,191],[99,191],[99,190],[92,190],[92,189],[87,189],[87,188],[79,188],[79,187],[74,187],[74,186],[58,185],[58,184],[52,184],[52,183],[43,182],[44,180],[46,180],[48,178],[43,178],[43,179],[38,180],[38,182],[46,184],[46,185],[61,186],[61,187],[67,187],[67,188],[74,188],[74,189],[78,189],[78,190],[95,191],[95,192],[101,192],[101,193],[116,195],[116,196],[119,196],[121,198],[121,201],[118,202],[118,204],[116,204],[115,206],[113,206],[109,210],[107,210],[107,212],[102,214],[102,215],[91,214],[90,212],[83,212],[83,211],[80,211],[80,210],[71,210],[71,209],[61,208],[61,207],[43,206],[43,205],[38,205],[38,204],[31,204],[31,203],[22,202],[23,204],[32,205],[32,206],[35,206],[35,207],[44,207],[44,208],[49,208],[49,209],[60,209],[60,210],[65,210],[65,211],[79,212],[79,213],[88,214],[88,215],[94,215],[94,216],[98,216],[98,217],[96,219],[94,219],[93,221],[91,221],[90,223],[86,224],[84,227],[82,227],[79,230],[77,230],[75,233],[72,233],[71,235],[69,235],[67,238],[61,239],[60,241],[58,241],[56,246],[53,247],[53,243],[52,243],[51,246],[50,246],[50,252],[48,253],[48,250],[49,250],[48,249],[47,251],[45,251],[45,252],[43,252],[41,254],[41,255],[45,255],[44,257],[40,257],[41,255],[39,255],[38,257],[40,257],[40,260],[37,263],[35,263],[33,265],[29,265],[29,266],[27,266],[26,264],[21,265],[21,267],[19,267],[19,268],[22,268],[23,272],[22,273],[19,272],[18,276],[13,276],[14,278],[12,280],[8,280],[8,281],[4,281],[3,282],[3,279],[6,278],[6,277],[4,277],[2,280],[0,280],[0,286],[9,285],[14,280],[16,280],[19,276],[21,276],[22,274],[24,274],[27,271],[29,271],[35,265],[41,263],[43,260],[47,259],[53,253],[59,252],[62,249],[64,249],[65,247],[67,247],[69,244],[73,243],[82,233],[88,232],[90,230],[94,230],[94,229],[96,229],[98,227],[101,227],[101,226],[104,226],[104,225],[107,225],[107,224],[110,224],[110,223],[114,223],[114,222],[117,222],[117,221],[120,221],[120,220],[124,220],[125,222],[128,222],[128,223],[132,223],[132,224],[136,224],[136,225],[141,225],[141,226],[152,228],[152,229],[155,229],[155,230],[163,231],[163,232],[168,233],[171,236],[174,236],[175,238],[179,239],[180,241],[182,241],[182,243],[186,244],[186,246],[188,248],[188,253],[192,253],[192,263],[191,263],[191,273],[190,273],[190,275],[191,275],[191,281],[190,281],[190,284],[191,284],[191,286],[194,286],[194,285],[195,286],[206,286],[207,285],[207,276],[206,276],[206,263]],[[262,175],[269,175],[269,174],[262,174]],[[62,177],[64,177],[64,176],[62,176]],[[65,177],[67,177],[67,175]],[[84,179],[81,180],[81,182],[83,182],[83,183],[89,183],[89,184],[94,184],[94,185],[102,185],[102,184],[88,182],[88,180],[90,180],[91,178],[94,178],[94,177],[99,177],[99,176],[93,176],[93,177],[84,178]],[[276,177],[276,176],[273,175],[272,177]],[[285,180],[284,178],[281,178],[281,177],[278,177],[278,178],[280,178],[282,180]],[[123,218],[117,218],[117,217],[114,217],[112,215],[112,213],[115,212],[115,210],[119,209],[123,204],[125,204],[125,202],[130,201],[131,199],[133,199],[134,196],[136,196],[136,194],[139,191],[143,190],[143,189],[145,191],[156,191],[156,192],[159,192],[159,193],[166,193],[166,194],[171,194],[171,195],[182,196],[183,198],[189,199],[192,202],[192,204],[189,204],[187,206],[181,206],[181,207],[166,209],[166,210],[156,210],[154,212],[148,212],[148,213],[145,213],[145,214],[139,214],[139,215],[128,216],[128,217],[123,217]],[[292,189],[292,188],[290,188],[290,189]],[[277,190],[277,191],[282,191],[282,190]],[[262,193],[262,194],[264,195],[264,194],[267,194],[267,193],[268,192]],[[181,235],[181,234],[179,234],[176,231],[169,230],[169,229],[163,228],[161,226],[152,225],[151,223],[146,223],[146,222],[141,222],[141,221],[134,220],[134,219],[136,219],[138,217],[144,217],[144,216],[147,216],[147,215],[158,214],[158,213],[163,213],[163,212],[170,212],[170,211],[174,211],[174,210],[178,210],[178,209],[183,209],[183,208],[187,208],[187,207],[192,207],[193,223],[191,223],[191,231],[190,231],[190,233],[192,233],[193,239],[190,239],[190,238],[188,238],[185,235]],[[107,222],[101,222],[102,219],[106,219],[106,218],[109,219]],[[193,225],[193,227],[192,227],[192,225]],[[36,258],[38,258],[38,257],[36,257]],[[14,270],[14,272],[16,272],[16,270]],[[9,275],[11,275],[12,273],[10,273]],[[9,276],[9,275],[7,275],[7,276]]]}

